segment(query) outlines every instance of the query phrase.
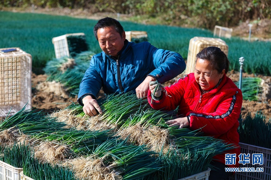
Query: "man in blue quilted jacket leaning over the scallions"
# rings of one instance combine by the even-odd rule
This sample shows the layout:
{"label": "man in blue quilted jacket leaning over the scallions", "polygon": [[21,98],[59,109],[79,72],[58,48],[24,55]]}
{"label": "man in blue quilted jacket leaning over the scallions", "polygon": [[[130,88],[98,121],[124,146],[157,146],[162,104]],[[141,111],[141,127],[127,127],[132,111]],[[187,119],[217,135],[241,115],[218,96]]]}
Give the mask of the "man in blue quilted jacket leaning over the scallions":
{"label": "man in blue quilted jacket leaning over the scallions", "polygon": [[143,98],[150,81],[162,84],[185,70],[185,62],[176,52],[158,49],[148,42],[128,42],[116,19],[100,19],[93,32],[102,52],[92,57],[80,83],[77,101],[85,114],[102,114],[96,101],[101,87],[105,94],[133,91]]}

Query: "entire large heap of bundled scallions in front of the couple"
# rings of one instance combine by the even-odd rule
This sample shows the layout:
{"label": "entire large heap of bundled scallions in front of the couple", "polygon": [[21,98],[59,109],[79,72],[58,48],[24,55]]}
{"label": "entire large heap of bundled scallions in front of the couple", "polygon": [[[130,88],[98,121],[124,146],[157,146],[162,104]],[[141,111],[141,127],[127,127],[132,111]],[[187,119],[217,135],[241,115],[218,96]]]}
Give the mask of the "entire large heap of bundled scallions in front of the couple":
{"label": "entire large heap of bundled scallions in front of the couple", "polygon": [[[57,116],[24,109],[0,122],[0,130],[16,134],[14,141],[20,141],[23,133],[39,156],[58,157],[54,160],[42,155],[39,159],[48,162],[37,165],[35,159],[30,159],[27,167],[35,164],[33,167],[49,168],[49,159],[51,164],[67,161],[65,164],[79,179],[180,179],[207,170],[213,156],[235,148],[222,140],[204,137],[200,130],[168,127],[165,121],[177,118],[177,110],[154,110],[146,99],[138,99],[131,92],[97,101],[104,113],[94,118],[109,127],[106,130],[79,130]],[[71,104],[64,113],[93,123],[94,118],[86,116],[78,104]],[[64,154],[67,149],[69,156]],[[56,154],[58,151],[63,153]],[[179,171],[168,173],[175,166]]]}

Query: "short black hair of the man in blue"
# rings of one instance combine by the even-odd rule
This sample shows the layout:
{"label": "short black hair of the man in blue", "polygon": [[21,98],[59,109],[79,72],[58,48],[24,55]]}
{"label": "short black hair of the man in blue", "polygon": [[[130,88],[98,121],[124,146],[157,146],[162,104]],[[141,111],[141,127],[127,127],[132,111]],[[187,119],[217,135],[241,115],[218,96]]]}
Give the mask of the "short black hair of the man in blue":
{"label": "short black hair of the man in blue", "polygon": [[98,29],[109,27],[109,26],[114,26],[116,31],[120,33],[120,36],[122,37],[122,32],[124,30],[120,22],[118,22],[116,19],[113,19],[111,17],[105,17],[103,19],[100,19],[93,28],[93,33],[95,35],[95,38],[98,40],[98,36],[97,36]]}

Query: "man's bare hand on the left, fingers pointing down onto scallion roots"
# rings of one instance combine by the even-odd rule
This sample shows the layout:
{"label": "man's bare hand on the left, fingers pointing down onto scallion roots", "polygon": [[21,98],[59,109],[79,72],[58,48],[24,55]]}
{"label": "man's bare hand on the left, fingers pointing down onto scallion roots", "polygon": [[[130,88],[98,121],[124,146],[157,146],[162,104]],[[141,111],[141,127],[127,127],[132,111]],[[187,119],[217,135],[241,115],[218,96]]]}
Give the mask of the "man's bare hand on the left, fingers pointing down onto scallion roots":
{"label": "man's bare hand on the left, fingers pointing down onto scallion roots", "polygon": [[86,96],[85,98],[82,99],[82,102],[84,104],[83,110],[85,114],[88,114],[89,116],[96,116],[97,115],[96,110],[98,110],[100,114],[103,113],[98,102],[91,96]]}

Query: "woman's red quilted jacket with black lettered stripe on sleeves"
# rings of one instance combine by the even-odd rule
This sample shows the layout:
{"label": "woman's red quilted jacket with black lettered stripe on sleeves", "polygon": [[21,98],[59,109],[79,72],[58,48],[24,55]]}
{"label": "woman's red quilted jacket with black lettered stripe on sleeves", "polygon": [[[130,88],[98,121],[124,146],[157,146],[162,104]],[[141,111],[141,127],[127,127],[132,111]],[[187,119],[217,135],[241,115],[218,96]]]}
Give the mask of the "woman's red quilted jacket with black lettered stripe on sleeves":
{"label": "woman's red quilted jacket with black lettered stripe on sleeves", "polygon": [[[153,100],[151,107],[156,110],[174,110],[179,106],[179,115],[190,116],[188,128],[197,130],[203,127],[202,132],[205,135],[238,146],[238,117],[243,97],[241,90],[225,74],[217,88],[203,95],[194,73],[179,78],[165,89],[167,95],[163,92],[162,99]],[[151,91],[148,91],[148,101],[151,103]],[[227,166],[239,167],[240,147],[227,153],[236,154],[235,165]],[[213,159],[225,164],[225,154],[216,155]]]}

